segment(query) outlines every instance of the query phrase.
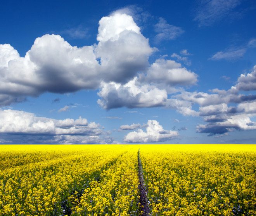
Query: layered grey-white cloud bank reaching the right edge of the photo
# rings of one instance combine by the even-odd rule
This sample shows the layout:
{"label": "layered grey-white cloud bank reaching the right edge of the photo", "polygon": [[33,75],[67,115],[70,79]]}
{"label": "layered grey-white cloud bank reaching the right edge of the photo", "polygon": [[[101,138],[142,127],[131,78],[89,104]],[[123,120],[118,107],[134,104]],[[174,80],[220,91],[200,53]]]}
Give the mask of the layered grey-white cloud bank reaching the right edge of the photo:
{"label": "layered grey-white cloud bank reaching the right edge of the photo", "polygon": [[[182,115],[201,116],[206,124],[197,126],[197,132],[209,135],[225,134],[233,130],[256,129],[256,95],[242,94],[255,88],[256,66],[247,74],[241,74],[235,86],[228,90],[212,89],[210,93],[182,91],[171,95],[165,107],[177,110]],[[194,110],[193,105],[199,105]]]}

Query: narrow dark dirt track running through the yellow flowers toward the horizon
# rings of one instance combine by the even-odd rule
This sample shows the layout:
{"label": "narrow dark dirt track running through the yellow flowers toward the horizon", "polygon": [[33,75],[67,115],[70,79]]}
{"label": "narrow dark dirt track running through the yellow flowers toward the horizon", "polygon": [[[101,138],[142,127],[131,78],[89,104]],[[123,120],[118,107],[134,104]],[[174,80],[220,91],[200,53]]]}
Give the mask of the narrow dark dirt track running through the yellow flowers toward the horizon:
{"label": "narrow dark dirt track running through the yellow flowers toward the horizon", "polygon": [[140,204],[143,206],[141,207],[140,211],[143,211],[144,213],[142,216],[148,216],[150,215],[150,210],[147,202],[147,190],[144,183],[144,177],[143,177],[143,170],[142,170],[142,164],[140,159],[140,149],[138,150],[138,177],[139,177],[139,191],[140,191]]}

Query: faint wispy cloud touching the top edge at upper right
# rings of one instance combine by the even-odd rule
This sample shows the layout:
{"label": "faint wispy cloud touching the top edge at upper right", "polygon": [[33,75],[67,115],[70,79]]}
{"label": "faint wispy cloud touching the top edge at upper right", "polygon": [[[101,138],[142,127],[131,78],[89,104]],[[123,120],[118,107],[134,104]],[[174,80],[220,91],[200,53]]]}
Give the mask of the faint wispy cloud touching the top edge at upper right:
{"label": "faint wispy cloud touching the top edge at upper right", "polygon": [[194,21],[198,21],[199,26],[210,26],[214,22],[230,16],[233,9],[235,9],[240,3],[241,0],[200,1]]}

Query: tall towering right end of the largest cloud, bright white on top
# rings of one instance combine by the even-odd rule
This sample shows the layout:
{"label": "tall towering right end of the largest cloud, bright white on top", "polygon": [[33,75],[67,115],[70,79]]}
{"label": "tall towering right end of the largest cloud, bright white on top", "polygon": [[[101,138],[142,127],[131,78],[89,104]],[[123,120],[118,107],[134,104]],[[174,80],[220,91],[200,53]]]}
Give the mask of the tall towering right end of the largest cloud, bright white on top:
{"label": "tall towering right end of the largest cloud, bright white on top", "polygon": [[103,17],[99,24],[95,53],[106,72],[104,81],[125,83],[147,68],[153,49],[130,15],[115,13]]}

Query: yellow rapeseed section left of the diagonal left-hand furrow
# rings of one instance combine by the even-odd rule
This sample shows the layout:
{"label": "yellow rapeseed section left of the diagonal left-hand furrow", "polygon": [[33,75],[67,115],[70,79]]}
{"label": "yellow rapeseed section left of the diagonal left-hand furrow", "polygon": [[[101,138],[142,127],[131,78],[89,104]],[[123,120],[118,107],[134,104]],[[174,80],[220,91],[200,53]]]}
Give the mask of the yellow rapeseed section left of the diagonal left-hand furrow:
{"label": "yellow rapeseed section left of the diagonal left-hand furrow", "polygon": [[0,170],[0,215],[64,215],[71,205],[69,197],[87,188],[130,149],[121,145],[0,148],[1,163],[6,161]]}

